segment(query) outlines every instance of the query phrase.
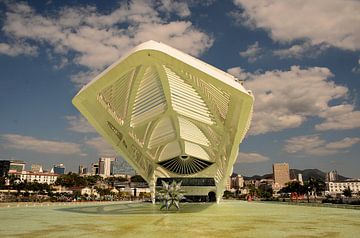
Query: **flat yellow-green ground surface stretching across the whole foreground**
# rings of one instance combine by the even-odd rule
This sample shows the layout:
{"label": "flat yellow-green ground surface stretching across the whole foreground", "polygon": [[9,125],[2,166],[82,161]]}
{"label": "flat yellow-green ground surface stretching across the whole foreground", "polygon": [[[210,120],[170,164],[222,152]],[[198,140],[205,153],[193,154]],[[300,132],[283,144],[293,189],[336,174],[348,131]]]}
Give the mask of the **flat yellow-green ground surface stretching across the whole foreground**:
{"label": "flat yellow-green ground surface stretching across the whole foreground", "polygon": [[360,237],[360,210],[241,201],[0,208],[0,237]]}

